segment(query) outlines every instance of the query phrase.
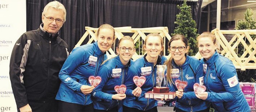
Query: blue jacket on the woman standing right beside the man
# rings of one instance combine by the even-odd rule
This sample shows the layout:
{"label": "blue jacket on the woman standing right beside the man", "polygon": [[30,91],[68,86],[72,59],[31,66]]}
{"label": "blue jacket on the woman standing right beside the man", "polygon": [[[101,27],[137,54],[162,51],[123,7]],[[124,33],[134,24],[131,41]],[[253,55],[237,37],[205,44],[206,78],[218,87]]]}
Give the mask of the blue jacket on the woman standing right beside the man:
{"label": "blue jacket on the woman standing right beside the man", "polygon": [[106,59],[107,55],[101,52],[97,41],[74,48],[60,70],[61,84],[56,99],[81,105],[93,103],[91,94],[83,94],[80,88],[90,85],[89,76],[95,76]]}

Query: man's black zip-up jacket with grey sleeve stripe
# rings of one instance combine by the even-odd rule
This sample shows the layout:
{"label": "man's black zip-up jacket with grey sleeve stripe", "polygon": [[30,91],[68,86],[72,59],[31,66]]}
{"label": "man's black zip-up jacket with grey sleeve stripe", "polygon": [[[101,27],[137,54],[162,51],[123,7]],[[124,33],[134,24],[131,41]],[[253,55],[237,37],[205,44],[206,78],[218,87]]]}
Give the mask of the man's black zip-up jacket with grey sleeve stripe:
{"label": "man's black zip-up jacket with grey sleeve stripe", "polygon": [[40,28],[17,40],[10,58],[10,81],[17,107],[55,99],[59,71],[68,57],[68,45],[58,34],[52,37]]}

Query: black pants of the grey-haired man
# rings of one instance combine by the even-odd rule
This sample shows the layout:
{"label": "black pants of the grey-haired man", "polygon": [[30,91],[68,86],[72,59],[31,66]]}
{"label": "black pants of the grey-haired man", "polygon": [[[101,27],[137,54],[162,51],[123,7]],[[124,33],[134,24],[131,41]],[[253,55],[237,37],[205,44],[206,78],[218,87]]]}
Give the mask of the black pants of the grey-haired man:
{"label": "black pants of the grey-haired man", "polygon": [[[29,101],[29,106],[32,109],[32,112],[57,112],[58,111],[58,101],[52,99],[47,102],[31,102]],[[20,112],[20,108],[17,108]]]}

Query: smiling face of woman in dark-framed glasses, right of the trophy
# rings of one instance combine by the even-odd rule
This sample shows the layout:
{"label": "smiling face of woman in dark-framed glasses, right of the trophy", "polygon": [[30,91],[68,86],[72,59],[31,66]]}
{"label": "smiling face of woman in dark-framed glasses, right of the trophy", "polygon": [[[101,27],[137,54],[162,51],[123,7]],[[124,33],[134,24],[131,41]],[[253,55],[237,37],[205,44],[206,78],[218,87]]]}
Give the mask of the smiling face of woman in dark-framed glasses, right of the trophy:
{"label": "smiling face of woman in dark-framed glasses, right of the trophy", "polygon": [[[175,51],[171,51],[170,50],[170,47],[169,47],[169,52],[171,53],[171,57],[173,58],[174,62],[177,64],[177,65],[183,65],[184,62],[186,61],[186,57],[185,57],[185,53],[188,52],[188,49],[189,47],[187,47],[185,45],[185,43],[181,40],[181,39],[178,39],[178,40],[174,40],[170,43],[170,46],[171,47],[176,47]],[[178,47],[185,47],[183,51],[179,51],[178,50]]]}

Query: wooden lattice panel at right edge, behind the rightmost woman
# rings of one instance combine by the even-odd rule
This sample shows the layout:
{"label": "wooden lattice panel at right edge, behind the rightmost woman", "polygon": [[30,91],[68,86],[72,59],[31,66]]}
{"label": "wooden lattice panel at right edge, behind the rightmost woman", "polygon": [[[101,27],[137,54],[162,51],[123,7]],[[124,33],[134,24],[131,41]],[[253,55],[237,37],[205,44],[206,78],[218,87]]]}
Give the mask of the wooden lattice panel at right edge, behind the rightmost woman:
{"label": "wooden lattice panel at right edge, behind the rightmost woman", "polygon": [[[236,69],[256,69],[256,39],[253,40],[252,35],[256,34],[256,29],[253,30],[219,30],[214,29],[212,31],[215,34],[219,48],[222,48],[221,55],[229,58]],[[232,39],[228,42],[223,34],[232,34]],[[247,42],[247,43],[246,43]],[[242,43],[244,52],[242,56],[238,56],[237,46]]]}

